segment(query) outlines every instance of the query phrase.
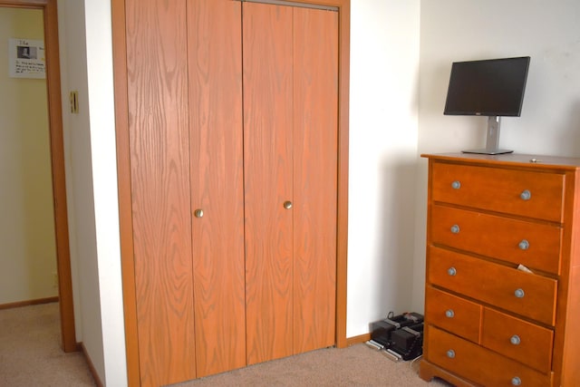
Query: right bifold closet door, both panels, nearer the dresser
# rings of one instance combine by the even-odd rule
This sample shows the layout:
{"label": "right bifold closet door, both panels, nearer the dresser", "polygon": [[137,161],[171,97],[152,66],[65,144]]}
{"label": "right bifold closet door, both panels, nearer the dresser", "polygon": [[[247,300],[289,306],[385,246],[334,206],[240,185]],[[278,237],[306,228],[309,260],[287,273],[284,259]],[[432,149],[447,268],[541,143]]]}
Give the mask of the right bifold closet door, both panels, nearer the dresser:
{"label": "right bifold closet door, both panels, nearer the dresser", "polygon": [[244,5],[247,363],[334,343],[338,15]]}

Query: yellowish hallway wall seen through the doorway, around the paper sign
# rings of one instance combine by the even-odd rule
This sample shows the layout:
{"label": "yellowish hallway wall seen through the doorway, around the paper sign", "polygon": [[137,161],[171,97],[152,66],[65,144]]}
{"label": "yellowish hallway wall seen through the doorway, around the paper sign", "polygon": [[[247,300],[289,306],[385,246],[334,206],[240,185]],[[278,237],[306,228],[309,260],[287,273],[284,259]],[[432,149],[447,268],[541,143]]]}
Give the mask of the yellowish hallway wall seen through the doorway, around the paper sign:
{"label": "yellowish hallway wall seen through the doorway, around the paper sign", "polygon": [[58,295],[46,80],[9,76],[16,38],[43,41],[43,13],[0,7],[0,305]]}

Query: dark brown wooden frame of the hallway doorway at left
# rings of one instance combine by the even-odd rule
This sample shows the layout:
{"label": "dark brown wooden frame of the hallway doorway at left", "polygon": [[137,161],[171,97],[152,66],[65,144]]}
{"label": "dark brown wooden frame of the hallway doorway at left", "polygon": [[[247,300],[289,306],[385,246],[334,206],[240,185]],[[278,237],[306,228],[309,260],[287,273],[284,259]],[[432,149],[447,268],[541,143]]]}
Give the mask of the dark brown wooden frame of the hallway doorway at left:
{"label": "dark brown wooden frame of the hallway doorway at left", "polygon": [[61,65],[58,44],[56,0],[0,0],[0,7],[40,9],[43,11],[46,91],[53,173],[54,234],[58,273],[61,344],[64,352],[79,350],[76,343],[73,307],[73,279],[69,246],[66,181],[64,174],[63,106],[61,100]]}

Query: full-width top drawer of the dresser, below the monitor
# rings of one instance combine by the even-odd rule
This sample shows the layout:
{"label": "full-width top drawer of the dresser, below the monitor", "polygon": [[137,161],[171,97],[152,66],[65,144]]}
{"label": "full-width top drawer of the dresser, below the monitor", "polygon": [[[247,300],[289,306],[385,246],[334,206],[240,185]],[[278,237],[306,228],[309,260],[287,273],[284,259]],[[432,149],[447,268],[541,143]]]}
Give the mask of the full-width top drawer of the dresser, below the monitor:
{"label": "full-width top drawer of the dresser, below the monitor", "polygon": [[432,163],[431,173],[433,201],[562,221],[562,174],[440,161]]}

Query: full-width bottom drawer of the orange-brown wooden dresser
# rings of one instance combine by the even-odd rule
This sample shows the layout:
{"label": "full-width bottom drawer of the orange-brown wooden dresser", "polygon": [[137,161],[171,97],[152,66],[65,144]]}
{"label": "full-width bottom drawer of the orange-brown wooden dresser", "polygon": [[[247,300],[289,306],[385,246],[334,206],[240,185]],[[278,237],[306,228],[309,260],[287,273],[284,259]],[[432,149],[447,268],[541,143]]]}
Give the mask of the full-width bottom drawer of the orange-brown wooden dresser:
{"label": "full-width bottom drawer of the orange-brown wooden dresser", "polygon": [[433,326],[426,327],[425,340],[425,358],[430,363],[478,384],[494,387],[552,385],[551,372],[537,372]]}

